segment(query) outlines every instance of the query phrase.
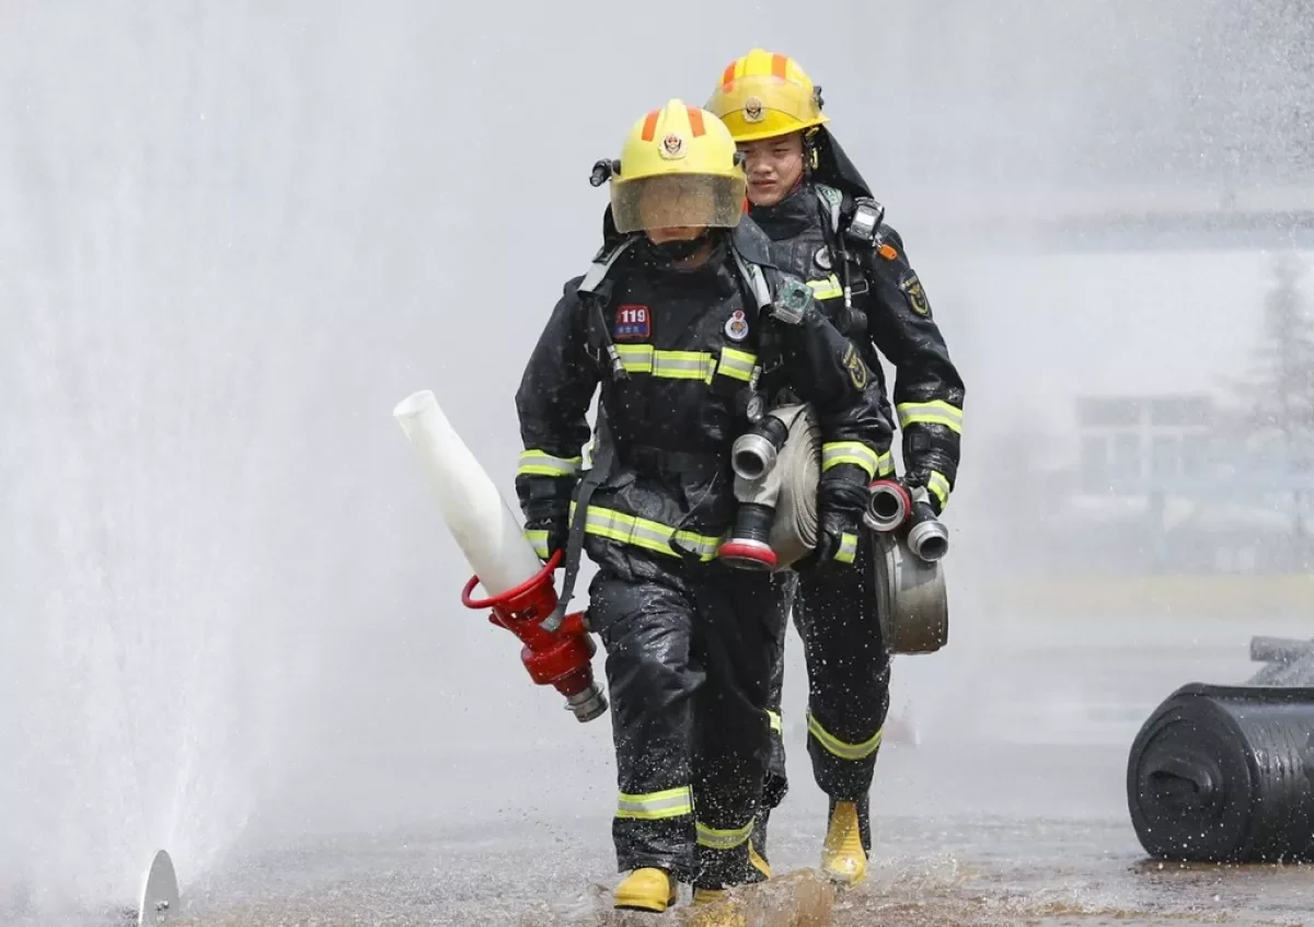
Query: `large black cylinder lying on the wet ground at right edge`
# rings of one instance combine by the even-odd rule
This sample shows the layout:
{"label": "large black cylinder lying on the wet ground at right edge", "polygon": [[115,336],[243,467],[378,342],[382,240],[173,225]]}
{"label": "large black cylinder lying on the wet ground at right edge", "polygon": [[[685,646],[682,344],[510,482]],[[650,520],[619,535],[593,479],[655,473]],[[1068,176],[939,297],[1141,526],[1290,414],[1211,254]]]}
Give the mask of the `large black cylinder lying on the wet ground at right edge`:
{"label": "large black cylinder lying on the wet ground at right edge", "polygon": [[1159,859],[1314,859],[1314,688],[1181,687],[1131,744],[1127,806]]}

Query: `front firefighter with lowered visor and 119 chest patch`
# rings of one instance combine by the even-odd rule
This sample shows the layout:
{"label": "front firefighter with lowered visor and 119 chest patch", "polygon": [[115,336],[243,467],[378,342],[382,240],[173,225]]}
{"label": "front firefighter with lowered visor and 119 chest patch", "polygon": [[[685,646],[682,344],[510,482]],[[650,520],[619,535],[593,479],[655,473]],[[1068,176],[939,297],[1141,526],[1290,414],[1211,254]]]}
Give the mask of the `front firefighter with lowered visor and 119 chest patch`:
{"label": "front firefighter with lowered visor and 119 chest patch", "polygon": [[[769,751],[769,572],[716,551],[736,515],[731,446],[759,390],[788,381],[830,446],[861,465],[819,541],[851,558],[867,474],[888,423],[871,372],[811,288],[779,273],[744,215],[742,156],[715,116],[671,100],[639,119],[610,184],[616,235],[566,282],[516,391],[524,452],[516,494],[543,558],[598,566],[587,625],[606,649],[619,798],[620,909],[664,911],[763,876],[750,861]],[[593,465],[581,449],[600,387]],[[774,389],[774,387],[771,387]],[[848,503],[848,508],[844,508]]]}

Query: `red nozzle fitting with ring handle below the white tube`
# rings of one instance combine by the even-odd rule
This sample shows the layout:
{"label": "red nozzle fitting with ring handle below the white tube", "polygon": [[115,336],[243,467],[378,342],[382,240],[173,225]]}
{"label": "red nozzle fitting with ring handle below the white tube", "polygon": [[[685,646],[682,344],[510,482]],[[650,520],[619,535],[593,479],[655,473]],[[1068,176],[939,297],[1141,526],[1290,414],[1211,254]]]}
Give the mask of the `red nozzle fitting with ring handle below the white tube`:
{"label": "red nozzle fitting with ring handle below the white tube", "polygon": [[553,620],[557,591],[552,574],[560,562],[558,550],[533,576],[487,599],[472,597],[480,578],[470,576],[461,590],[461,604],[472,609],[491,608],[489,622],[506,628],[524,645],[520,662],[530,679],[564,695],[581,722],[593,721],[607,710],[607,699],[593,678],[591,659],[598,647],[583,626],[582,612]]}

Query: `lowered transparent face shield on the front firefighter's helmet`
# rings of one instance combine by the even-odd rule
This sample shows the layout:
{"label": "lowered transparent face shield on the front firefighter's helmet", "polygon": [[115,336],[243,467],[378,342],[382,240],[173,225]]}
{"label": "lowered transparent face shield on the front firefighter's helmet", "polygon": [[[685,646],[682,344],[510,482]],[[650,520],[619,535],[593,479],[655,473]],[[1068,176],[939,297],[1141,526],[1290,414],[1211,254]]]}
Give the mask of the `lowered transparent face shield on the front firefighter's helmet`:
{"label": "lowered transparent face shield on the front firefighter's helmet", "polygon": [[[622,168],[623,169],[623,168]],[[742,175],[666,173],[611,181],[611,211],[625,234],[654,228],[733,228],[744,215]]]}

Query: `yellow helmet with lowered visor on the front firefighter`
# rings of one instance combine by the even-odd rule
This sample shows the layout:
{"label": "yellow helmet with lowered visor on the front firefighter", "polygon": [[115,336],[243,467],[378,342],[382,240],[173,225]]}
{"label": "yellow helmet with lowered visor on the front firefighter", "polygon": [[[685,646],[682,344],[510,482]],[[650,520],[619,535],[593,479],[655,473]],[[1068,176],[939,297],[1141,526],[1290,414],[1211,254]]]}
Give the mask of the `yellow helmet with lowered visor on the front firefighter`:
{"label": "yellow helmet with lowered visor on the front firefighter", "polygon": [[620,232],[733,228],[746,192],[744,158],[729,129],[683,100],[635,122],[611,171],[611,213]]}

